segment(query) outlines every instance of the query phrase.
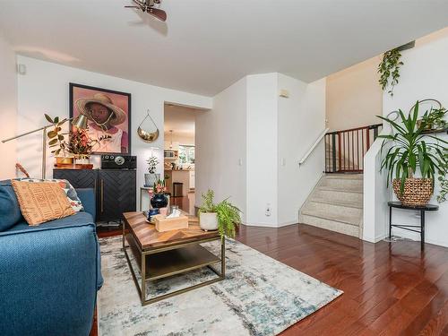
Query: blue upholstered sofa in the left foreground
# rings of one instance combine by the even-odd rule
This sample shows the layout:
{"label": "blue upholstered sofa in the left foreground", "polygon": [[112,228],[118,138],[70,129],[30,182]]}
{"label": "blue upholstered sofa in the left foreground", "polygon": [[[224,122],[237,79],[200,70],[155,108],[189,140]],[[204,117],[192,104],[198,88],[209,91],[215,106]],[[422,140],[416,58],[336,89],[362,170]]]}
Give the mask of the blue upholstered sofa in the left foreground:
{"label": "blue upholstered sofa in the left foreground", "polygon": [[93,189],[85,211],[30,227],[0,182],[0,335],[89,335],[102,285]]}

